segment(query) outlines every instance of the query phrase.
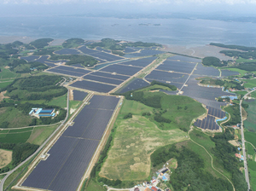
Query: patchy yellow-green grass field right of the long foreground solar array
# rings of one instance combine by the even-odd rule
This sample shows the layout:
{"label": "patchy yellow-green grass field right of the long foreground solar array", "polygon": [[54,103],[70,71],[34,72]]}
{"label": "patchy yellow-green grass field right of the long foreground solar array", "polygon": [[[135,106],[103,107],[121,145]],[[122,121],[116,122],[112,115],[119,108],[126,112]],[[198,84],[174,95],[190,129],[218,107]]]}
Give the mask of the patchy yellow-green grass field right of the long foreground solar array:
{"label": "patchy yellow-green grass field right of the long foreground solar array", "polygon": [[182,130],[160,130],[148,119],[134,115],[118,119],[118,128],[100,176],[125,181],[143,180],[150,172],[150,154],[174,142],[186,140]]}

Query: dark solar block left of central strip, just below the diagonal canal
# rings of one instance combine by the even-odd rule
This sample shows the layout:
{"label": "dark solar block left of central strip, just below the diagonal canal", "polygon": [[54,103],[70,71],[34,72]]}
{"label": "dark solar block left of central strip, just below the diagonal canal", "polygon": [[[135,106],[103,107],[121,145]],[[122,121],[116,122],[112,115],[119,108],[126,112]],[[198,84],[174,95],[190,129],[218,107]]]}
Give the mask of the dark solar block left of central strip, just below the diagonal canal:
{"label": "dark solar block left of central strip, just below the diagonal canal", "polygon": [[141,67],[130,67],[130,66],[113,64],[113,65],[109,65],[108,67],[102,68],[100,71],[102,71],[102,72],[116,72],[116,73],[119,73],[119,74],[132,76],[135,73],[139,72],[140,70],[142,70]]}

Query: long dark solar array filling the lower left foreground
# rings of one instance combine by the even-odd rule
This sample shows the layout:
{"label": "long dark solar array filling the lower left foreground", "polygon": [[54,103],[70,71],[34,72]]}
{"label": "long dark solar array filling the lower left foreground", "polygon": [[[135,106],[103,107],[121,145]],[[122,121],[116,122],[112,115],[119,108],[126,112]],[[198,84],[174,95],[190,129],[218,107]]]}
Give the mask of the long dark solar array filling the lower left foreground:
{"label": "long dark solar array filling the lower left foreground", "polygon": [[119,98],[93,96],[39,162],[22,186],[54,191],[75,191],[102,138]]}

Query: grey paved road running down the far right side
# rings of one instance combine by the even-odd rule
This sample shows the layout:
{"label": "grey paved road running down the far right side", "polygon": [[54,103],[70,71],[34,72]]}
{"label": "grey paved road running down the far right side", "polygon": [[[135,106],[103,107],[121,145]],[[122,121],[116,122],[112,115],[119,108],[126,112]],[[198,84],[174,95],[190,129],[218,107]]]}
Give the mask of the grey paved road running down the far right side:
{"label": "grey paved road running down the far right side", "polygon": [[[253,90],[255,91],[255,90]],[[242,154],[243,154],[243,162],[244,162],[244,171],[245,171],[245,178],[247,182],[248,190],[250,190],[250,180],[249,180],[249,174],[248,174],[248,168],[247,168],[247,153],[245,148],[245,140],[244,140],[244,133],[243,133],[243,120],[242,120],[242,113],[241,113],[241,102],[244,97],[246,97],[248,94],[252,93],[253,91],[249,91],[245,96],[241,98],[240,101],[240,114],[241,114],[241,144],[242,144]]]}

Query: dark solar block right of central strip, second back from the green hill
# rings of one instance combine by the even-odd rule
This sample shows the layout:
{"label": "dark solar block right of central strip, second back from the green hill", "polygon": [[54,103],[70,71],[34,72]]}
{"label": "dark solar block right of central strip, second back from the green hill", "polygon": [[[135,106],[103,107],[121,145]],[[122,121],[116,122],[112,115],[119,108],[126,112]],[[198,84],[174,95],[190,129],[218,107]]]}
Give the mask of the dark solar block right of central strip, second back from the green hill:
{"label": "dark solar block right of central strip, second back from the green hill", "polygon": [[174,72],[190,73],[195,67],[195,63],[183,62],[183,61],[165,61],[156,69]]}

